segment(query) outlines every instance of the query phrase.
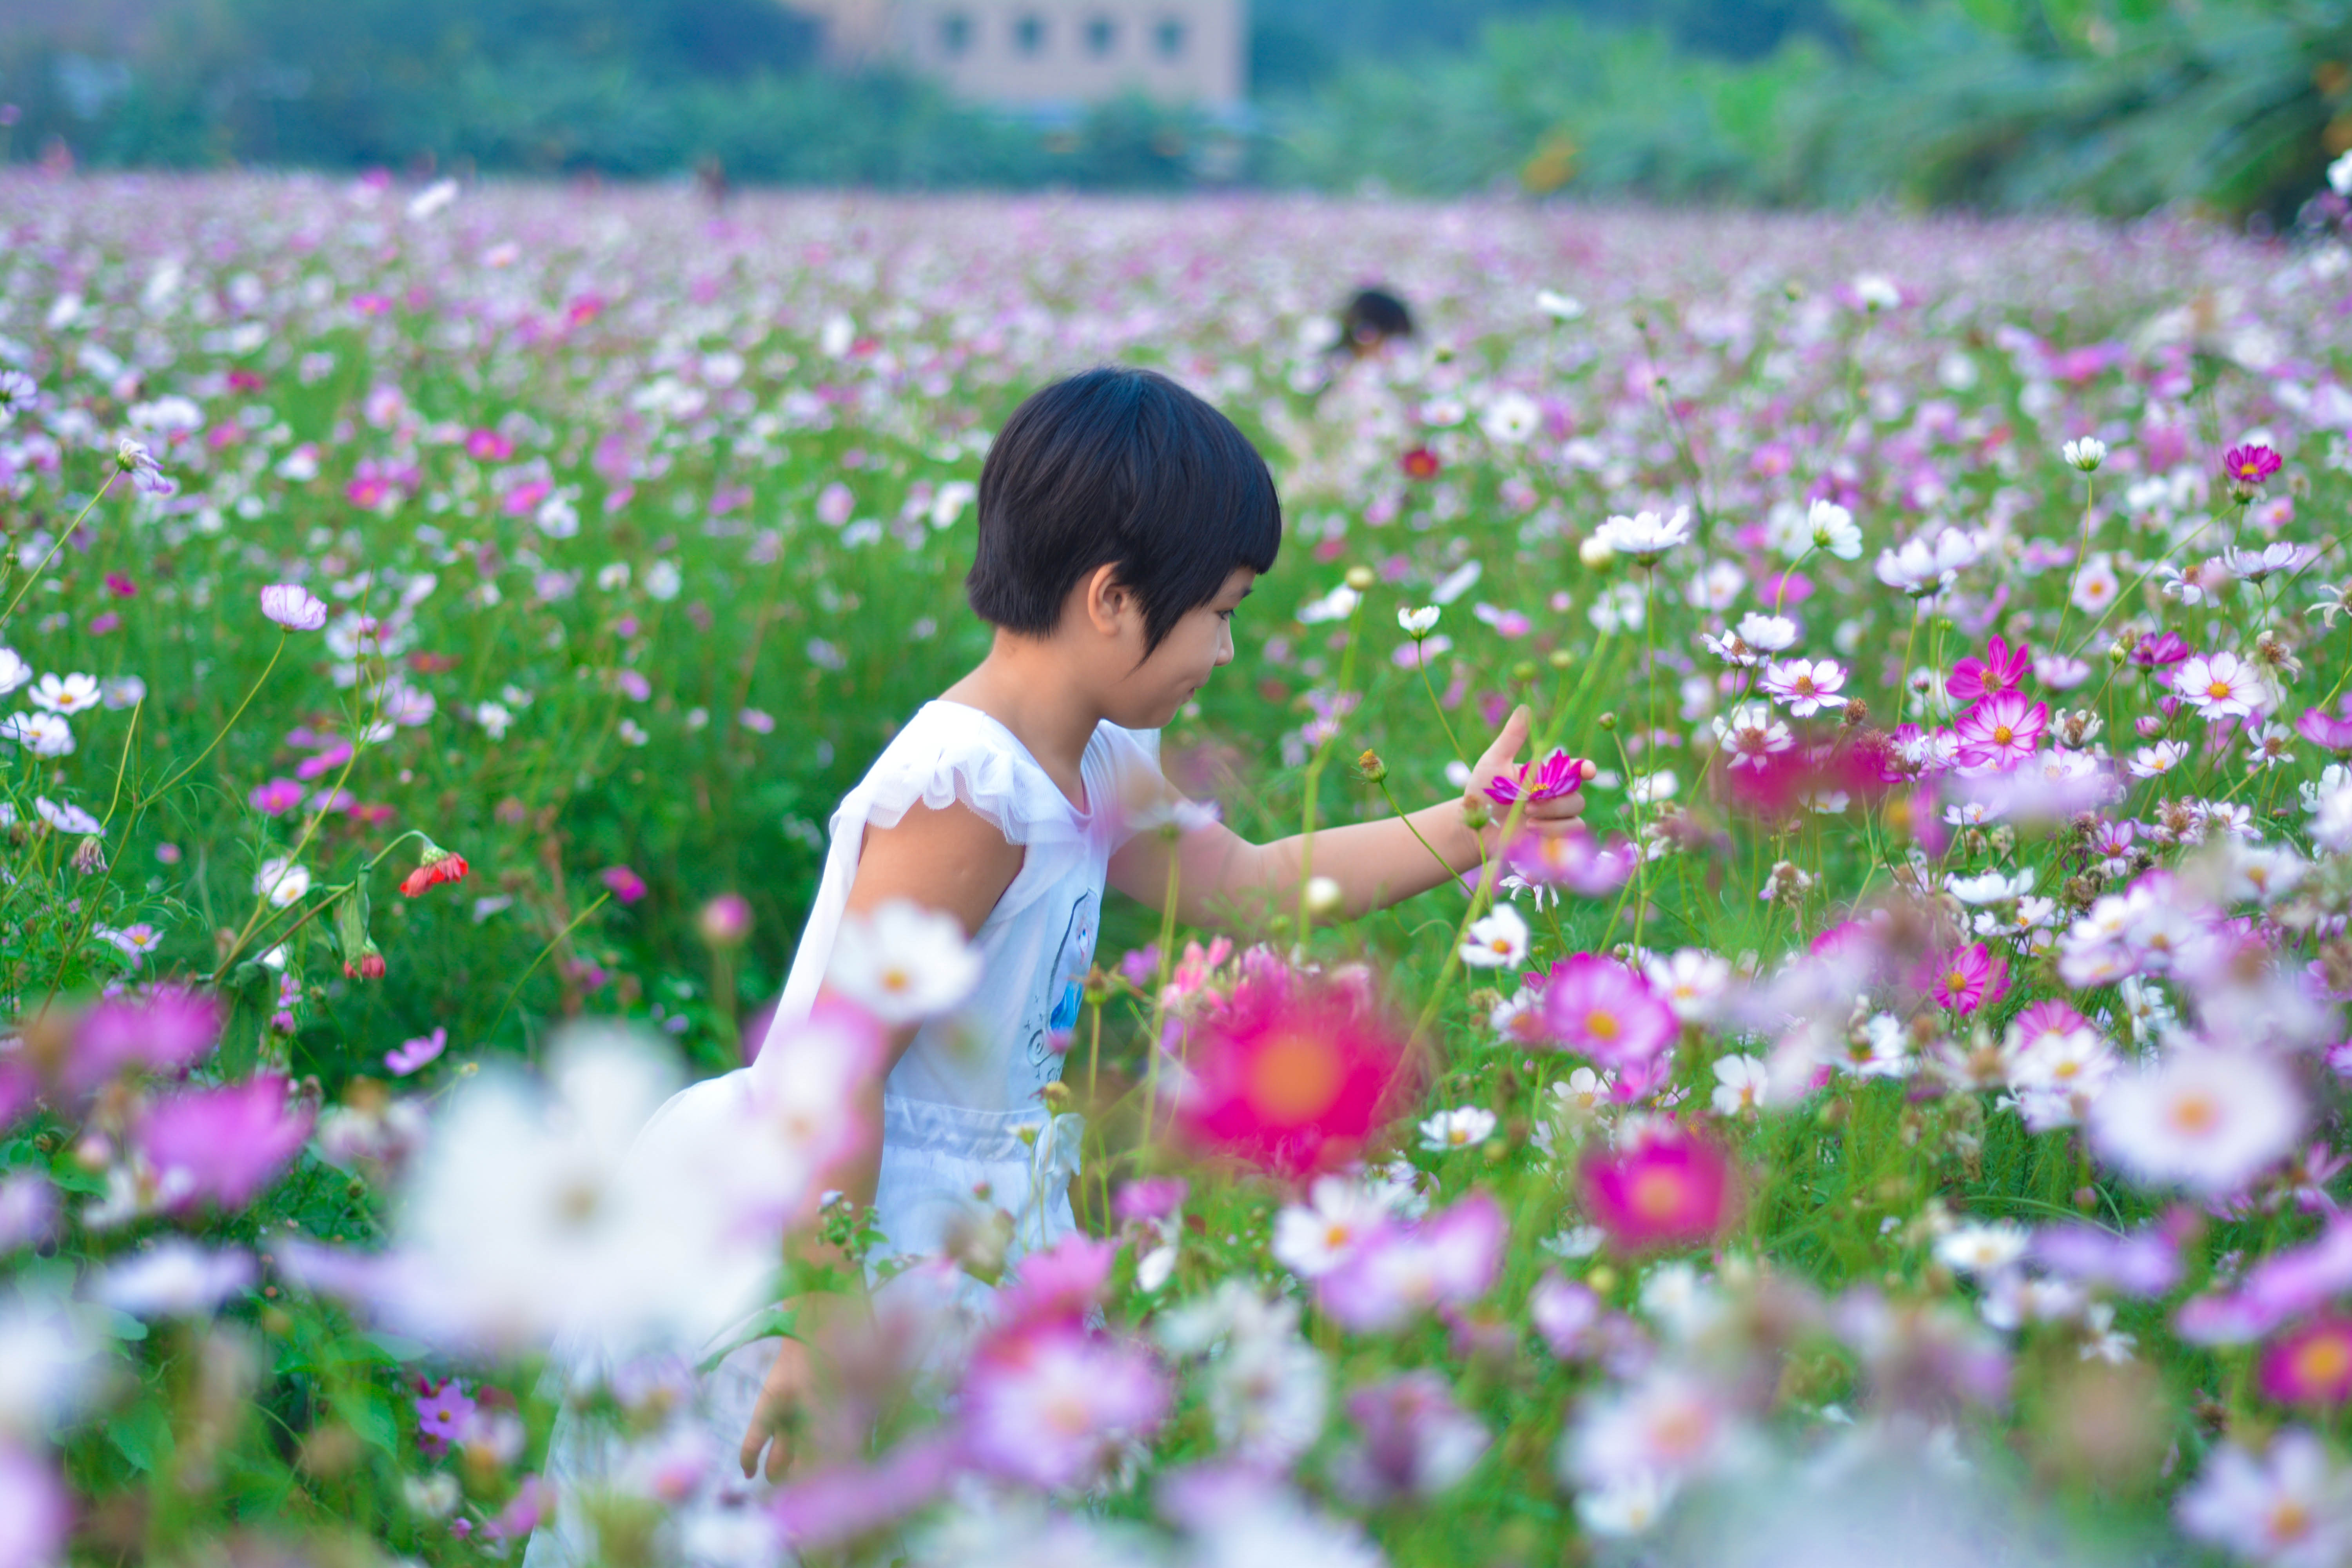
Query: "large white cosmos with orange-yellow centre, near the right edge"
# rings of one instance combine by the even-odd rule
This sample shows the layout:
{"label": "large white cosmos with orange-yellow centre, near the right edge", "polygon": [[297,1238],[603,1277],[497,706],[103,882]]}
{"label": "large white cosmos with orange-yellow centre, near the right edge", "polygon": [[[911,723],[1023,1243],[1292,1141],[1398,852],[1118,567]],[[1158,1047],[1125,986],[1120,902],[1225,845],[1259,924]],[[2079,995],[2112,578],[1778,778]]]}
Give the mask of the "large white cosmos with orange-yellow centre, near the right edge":
{"label": "large white cosmos with orange-yellow centre, near the right edge", "polygon": [[2091,1107],[2091,1147],[2147,1187],[2239,1192],[2303,1131],[2303,1095],[2258,1051],[2173,1046],[2117,1074]]}

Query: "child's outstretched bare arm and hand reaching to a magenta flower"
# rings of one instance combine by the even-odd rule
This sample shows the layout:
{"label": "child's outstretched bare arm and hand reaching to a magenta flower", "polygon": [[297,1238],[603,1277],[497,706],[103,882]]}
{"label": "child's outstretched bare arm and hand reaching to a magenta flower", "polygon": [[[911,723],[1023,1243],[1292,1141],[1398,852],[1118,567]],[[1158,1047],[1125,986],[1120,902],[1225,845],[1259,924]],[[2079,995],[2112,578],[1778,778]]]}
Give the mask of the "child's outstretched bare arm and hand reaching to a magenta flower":
{"label": "child's outstretched bare arm and hand reaching to a magenta flower", "polygon": [[[1484,804],[1486,783],[1517,766],[1526,731],[1529,710],[1519,708],[1470,769],[1470,785],[1461,799],[1378,823],[1317,827],[1312,842],[1291,835],[1272,844],[1251,844],[1223,823],[1192,827],[1174,842],[1157,832],[1138,832],[1110,858],[1110,886],[1162,907],[1174,875],[1176,914],[1195,926],[1261,922],[1289,907],[1298,898],[1298,884],[1310,875],[1338,884],[1345,917],[1385,910],[1501,851],[1503,820],[1510,813],[1496,806],[1484,827],[1470,827],[1465,809],[1475,799]],[[1590,773],[1588,762],[1585,776]],[[1174,799],[1174,790],[1169,797]],[[1564,832],[1583,809],[1585,797],[1576,792],[1529,804],[1519,823],[1534,832]]]}

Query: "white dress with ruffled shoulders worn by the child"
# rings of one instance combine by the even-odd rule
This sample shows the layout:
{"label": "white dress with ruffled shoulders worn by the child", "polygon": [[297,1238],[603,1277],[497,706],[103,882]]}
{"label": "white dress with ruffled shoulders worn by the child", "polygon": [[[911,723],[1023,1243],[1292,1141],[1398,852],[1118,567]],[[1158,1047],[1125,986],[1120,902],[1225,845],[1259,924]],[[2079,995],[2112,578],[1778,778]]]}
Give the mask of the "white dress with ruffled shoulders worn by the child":
{"label": "white dress with ruffled shoulders worn by the child", "polygon": [[[816,903],[760,1056],[750,1067],[673,1095],[640,1133],[640,1147],[675,1147],[701,1126],[724,1126],[743,1095],[767,1084],[762,1074],[788,1070],[790,1051],[776,1046],[816,1004],[866,830],[896,827],[917,802],[962,804],[1023,849],[1021,872],[971,938],[981,957],[978,990],[953,1016],[924,1023],[884,1081],[877,1260],[936,1255],[967,1215],[985,1208],[1014,1218],[1009,1260],[1077,1229],[1070,1178],[1084,1128],[1077,1117],[1049,1114],[1042,1088],[1061,1079],[1068,1030],[1094,964],[1110,856],[1152,818],[1150,804],[1164,792],[1160,733],[1101,724],[1080,776],[1084,809],[1070,804],[997,719],[946,698],[924,703],[833,813]],[[976,1309],[983,1307],[988,1288],[981,1281],[962,1276],[962,1288]],[[743,1321],[741,1312],[743,1302],[715,1302],[713,1349]],[[753,1340],[703,1378],[703,1425],[729,1455],[727,1465],[774,1359],[771,1340]],[[583,1359],[560,1354],[557,1363],[576,1375]],[[604,1443],[564,1415],[548,1446],[546,1476],[562,1495],[595,1483],[609,1460]],[[567,1512],[532,1535],[524,1568],[583,1561],[586,1542]],[[682,1554],[684,1561],[694,1556],[691,1549]]]}

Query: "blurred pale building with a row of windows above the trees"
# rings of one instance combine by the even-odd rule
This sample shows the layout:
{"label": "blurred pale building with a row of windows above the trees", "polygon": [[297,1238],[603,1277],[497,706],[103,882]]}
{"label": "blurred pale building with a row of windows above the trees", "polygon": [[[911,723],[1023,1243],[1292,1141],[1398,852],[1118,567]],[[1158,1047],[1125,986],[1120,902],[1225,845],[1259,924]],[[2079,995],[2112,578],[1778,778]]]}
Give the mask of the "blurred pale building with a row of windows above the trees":
{"label": "blurred pale building with a row of windows above the trees", "polygon": [[1065,108],[1143,92],[1237,108],[1247,0],[786,0],[837,63],[901,61],[978,103]]}

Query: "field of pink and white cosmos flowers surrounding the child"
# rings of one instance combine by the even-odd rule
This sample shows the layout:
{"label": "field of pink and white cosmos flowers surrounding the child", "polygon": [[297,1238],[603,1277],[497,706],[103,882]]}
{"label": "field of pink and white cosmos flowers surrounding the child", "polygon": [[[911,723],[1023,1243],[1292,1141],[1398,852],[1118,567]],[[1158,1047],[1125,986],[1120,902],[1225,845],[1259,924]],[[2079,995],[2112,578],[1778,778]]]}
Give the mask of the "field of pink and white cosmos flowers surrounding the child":
{"label": "field of pink and white cosmos flowers surrounding the child", "polygon": [[[0,230],[0,1568],[2352,1561],[2338,235],[24,174]],[[1357,360],[1367,282],[1421,334]],[[811,1192],[870,1020],[621,1159],[985,651],[990,430],[1110,360],[1284,496],[1171,780],[1385,816],[1526,703],[1510,849],[1112,910],[1035,1143],[1087,1237],[802,1272],[750,1486],[680,1347],[786,1225],[873,1246]]]}

